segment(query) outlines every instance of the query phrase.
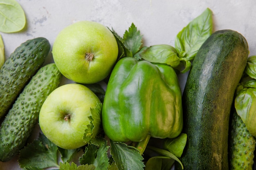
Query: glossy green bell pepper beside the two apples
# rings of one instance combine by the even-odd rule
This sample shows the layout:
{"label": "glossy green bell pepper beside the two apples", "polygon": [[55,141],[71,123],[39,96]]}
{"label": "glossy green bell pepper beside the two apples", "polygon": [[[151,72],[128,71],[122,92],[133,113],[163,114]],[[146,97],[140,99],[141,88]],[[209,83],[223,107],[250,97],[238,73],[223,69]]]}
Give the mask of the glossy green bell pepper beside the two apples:
{"label": "glossy green bell pepper beside the two apples", "polygon": [[180,135],[182,95],[174,69],[132,57],[119,60],[106,88],[102,125],[116,142]]}

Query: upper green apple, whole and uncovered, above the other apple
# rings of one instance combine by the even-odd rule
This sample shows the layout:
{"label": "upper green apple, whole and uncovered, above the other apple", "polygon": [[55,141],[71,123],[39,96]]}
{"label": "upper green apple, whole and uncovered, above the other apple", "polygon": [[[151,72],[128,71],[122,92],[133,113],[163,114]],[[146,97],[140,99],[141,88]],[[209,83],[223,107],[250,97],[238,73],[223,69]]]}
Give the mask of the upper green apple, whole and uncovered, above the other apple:
{"label": "upper green apple, whole and uncovered, above the other apple", "polygon": [[117,60],[118,45],[106,26],[79,21],[58,33],[52,55],[65,77],[74,82],[92,84],[110,74]]}

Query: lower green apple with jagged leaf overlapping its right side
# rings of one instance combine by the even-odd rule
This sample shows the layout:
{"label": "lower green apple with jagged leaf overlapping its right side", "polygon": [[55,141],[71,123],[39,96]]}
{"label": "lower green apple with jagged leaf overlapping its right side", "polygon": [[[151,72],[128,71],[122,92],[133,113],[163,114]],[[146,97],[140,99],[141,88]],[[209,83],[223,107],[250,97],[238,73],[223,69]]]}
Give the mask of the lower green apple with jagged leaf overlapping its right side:
{"label": "lower green apple with jagged leaf overlapping its right side", "polygon": [[97,103],[99,98],[89,88],[75,83],[62,85],[43,103],[39,113],[40,129],[60,148],[84,146],[83,134],[90,123],[88,116],[92,115],[90,108]]}

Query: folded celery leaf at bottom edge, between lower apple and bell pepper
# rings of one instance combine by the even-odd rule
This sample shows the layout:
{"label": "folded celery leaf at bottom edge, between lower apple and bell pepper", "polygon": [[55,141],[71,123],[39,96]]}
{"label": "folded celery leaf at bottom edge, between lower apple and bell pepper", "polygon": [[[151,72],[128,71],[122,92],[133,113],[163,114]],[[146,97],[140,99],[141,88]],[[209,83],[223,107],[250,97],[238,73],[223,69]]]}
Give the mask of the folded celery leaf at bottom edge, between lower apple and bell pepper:
{"label": "folded celery leaf at bottom edge, between lower apple and bell pepper", "polygon": [[85,153],[82,155],[82,157],[79,158],[79,163],[81,163],[81,165],[93,164],[96,167],[95,170],[107,170],[108,148],[109,146],[107,146],[107,142],[99,147],[94,144],[88,145],[85,148]]}

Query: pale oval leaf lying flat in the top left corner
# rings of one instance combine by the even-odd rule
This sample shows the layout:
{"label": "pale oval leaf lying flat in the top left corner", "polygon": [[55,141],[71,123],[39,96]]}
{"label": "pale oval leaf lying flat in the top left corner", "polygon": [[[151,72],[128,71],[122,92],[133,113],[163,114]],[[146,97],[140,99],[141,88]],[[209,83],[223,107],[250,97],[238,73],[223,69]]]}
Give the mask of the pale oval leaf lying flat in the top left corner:
{"label": "pale oval leaf lying flat in the top left corner", "polygon": [[0,0],[0,31],[13,33],[26,24],[25,13],[16,0]]}

